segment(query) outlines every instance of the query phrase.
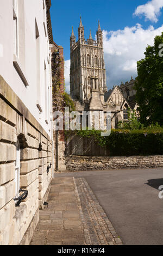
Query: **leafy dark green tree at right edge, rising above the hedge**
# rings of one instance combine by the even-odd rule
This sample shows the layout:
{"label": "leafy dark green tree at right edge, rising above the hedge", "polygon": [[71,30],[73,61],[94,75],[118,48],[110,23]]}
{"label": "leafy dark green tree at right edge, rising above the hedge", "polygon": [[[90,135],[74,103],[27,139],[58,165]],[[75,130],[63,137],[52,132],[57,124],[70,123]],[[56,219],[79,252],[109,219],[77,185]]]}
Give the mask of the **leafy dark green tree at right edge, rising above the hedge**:
{"label": "leafy dark green tree at right edge, rising above the hedge", "polygon": [[154,45],[146,48],[145,58],[137,62],[136,101],[140,122],[163,125],[163,57],[160,50],[163,33],[156,36]]}

